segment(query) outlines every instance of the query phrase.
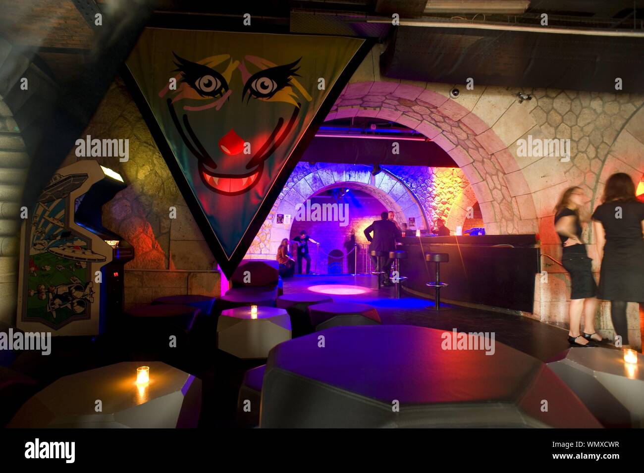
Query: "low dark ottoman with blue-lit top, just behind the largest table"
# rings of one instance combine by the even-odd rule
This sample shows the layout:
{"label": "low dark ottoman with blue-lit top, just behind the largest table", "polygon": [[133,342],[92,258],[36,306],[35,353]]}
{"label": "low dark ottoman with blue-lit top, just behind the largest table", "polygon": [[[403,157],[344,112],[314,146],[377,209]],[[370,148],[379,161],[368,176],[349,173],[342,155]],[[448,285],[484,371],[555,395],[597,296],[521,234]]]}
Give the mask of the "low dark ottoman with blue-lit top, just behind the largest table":
{"label": "low dark ottoman with blue-lit top, just behind the largest table", "polygon": [[378,311],[367,304],[327,302],[308,308],[311,325],[317,330],[343,325],[377,325],[381,323]]}

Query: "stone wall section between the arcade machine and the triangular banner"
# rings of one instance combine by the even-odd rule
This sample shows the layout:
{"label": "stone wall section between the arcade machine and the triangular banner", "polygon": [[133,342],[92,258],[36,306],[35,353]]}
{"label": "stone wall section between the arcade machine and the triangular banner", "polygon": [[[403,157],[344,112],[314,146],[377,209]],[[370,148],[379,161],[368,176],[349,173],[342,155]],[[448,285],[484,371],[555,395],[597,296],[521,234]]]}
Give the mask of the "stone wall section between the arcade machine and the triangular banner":
{"label": "stone wall section between the arcade machine and the triangular banner", "polygon": [[[212,271],[216,268],[214,257],[143,117],[120,79],[111,84],[82,137],[86,135],[92,139],[129,140],[127,162],[120,162],[118,158],[91,158],[118,172],[128,185],[127,189],[103,206],[102,215],[104,226],[120,234],[135,248],[135,259],[126,264],[126,279],[138,281],[138,272],[128,278],[133,270],[165,270],[150,273],[158,279],[159,287],[164,288],[166,286],[160,281],[184,278],[176,276],[173,270],[204,271],[200,273],[200,278],[209,279],[204,287],[209,290],[216,287],[215,295],[218,295],[219,274]],[[75,149],[71,149],[62,166],[82,159],[85,158],[78,158]],[[170,207],[175,207],[176,218],[170,218]],[[131,303],[146,302],[146,299],[158,293],[150,288],[137,289],[140,287],[146,288],[129,284]],[[182,282],[167,288],[177,291],[175,293],[186,293],[196,290],[198,286]]]}

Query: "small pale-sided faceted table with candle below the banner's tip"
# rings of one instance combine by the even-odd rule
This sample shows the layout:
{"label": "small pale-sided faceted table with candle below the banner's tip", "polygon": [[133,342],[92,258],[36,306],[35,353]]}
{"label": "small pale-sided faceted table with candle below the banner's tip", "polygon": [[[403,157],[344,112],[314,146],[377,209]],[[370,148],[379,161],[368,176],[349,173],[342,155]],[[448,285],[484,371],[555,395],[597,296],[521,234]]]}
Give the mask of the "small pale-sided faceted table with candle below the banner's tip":
{"label": "small pale-sided faceted table with candle below the banner's tip", "polygon": [[258,306],[222,311],[217,321],[217,347],[238,358],[266,358],[271,348],[290,340],[290,317],[284,309]]}

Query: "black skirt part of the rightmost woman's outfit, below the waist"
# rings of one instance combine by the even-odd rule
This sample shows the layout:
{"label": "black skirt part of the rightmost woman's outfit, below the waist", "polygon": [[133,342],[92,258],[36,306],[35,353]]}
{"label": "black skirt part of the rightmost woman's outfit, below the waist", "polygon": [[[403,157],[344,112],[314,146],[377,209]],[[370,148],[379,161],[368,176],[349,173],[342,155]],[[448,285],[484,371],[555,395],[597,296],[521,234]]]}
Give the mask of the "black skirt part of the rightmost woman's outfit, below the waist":
{"label": "black skirt part of the rightmost woman's outfit, below the waist", "polygon": [[644,241],[606,243],[598,297],[605,301],[644,302]]}

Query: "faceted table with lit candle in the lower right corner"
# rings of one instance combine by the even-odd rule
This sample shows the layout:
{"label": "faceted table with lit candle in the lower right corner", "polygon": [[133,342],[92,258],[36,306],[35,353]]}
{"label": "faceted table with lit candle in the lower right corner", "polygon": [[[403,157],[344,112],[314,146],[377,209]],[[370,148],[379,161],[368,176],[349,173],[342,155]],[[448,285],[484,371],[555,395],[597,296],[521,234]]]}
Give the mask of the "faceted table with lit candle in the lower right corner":
{"label": "faceted table with lit candle in the lower right corner", "polygon": [[569,348],[547,363],[604,427],[644,427],[644,355],[626,364],[621,350]]}

